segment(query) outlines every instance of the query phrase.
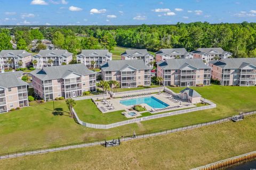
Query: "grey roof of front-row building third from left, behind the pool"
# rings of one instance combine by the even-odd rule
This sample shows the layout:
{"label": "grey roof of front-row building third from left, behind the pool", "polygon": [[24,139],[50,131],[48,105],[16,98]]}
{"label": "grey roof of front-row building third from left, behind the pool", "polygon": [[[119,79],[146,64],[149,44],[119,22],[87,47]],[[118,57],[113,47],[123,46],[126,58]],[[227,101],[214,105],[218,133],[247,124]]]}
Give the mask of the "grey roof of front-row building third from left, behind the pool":
{"label": "grey roof of front-row building third from left, behind the pool", "polygon": [[121,71],[128,66],[137,70],[151,70],[143,60],[112,60],[100,65],[102,71]]}

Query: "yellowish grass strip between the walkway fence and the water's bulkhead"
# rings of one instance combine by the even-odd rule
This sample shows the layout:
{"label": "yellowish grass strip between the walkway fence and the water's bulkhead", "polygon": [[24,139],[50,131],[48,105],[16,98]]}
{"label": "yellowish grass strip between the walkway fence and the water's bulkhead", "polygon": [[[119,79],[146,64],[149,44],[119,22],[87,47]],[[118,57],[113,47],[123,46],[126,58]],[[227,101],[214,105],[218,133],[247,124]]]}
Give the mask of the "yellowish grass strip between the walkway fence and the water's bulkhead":
{"label": "yellowish grass strip between the walkway fence and the water's bulkhead", "polygon": [[2,169],[190,169],[256,150],[256,116],[122,142],[0,160]]}

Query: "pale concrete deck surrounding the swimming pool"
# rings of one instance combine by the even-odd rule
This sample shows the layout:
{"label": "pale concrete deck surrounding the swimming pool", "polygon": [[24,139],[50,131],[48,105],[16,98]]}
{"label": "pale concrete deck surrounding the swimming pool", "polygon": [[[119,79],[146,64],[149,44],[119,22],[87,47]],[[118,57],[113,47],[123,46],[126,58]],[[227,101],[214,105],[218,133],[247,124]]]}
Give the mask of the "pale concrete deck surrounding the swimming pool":
{"label": "pale concrete deck surrounding the swimming pool", "polygon": [[[166,95],[164,93],[161,93],[161,94],[150,94],[150,95],[145,95],[145,96],[137,96],[137,97],[127,97],[127,98],[111,98],[111,99],[107,99],[106,101],[108,101],[108,104],[113,106],[114,109],[109,109],[110,107],[107,107],[108,104],[103,104],[101,101],[95,101],[95,103],[97,104],[98,108],[105,108],[105,111],[106,112],[102,112],[102,113],[108,113],[108,112],[114,112],[114,111],[121,111],[121,110],[125,110],[127,112],[129,112],[129,109],[132,108],[133,105],[131,106],[125,106],[125,105],[122,105],[120,104],[120,100],[127,100],[127,99],[132,99],[132,98],[141,98],[141,97],[150,97],[150,96],[154,96],[155,98],[163,101],[164,103],[168,104],[169,106],[166,107],[166,108],[169,108],[169,107],[173,107],[173,106],[177,106],[175,108],[169,108],[169,109],[162,109],[160,111],[155,111],[154,113],[159,113],[159,112],[166,112],[166,111],[173,111],[173,110],[177,110],[177,109],[185,109],[185,108],[191,108],[191,107],[196,107],[196,105],[193,105],[193,104],[190,104],[188,105],[189,103],[187,101],[184,101],[184,100],[179,100],[178,103],[174,103],[173,101],[171,101],[168,97],[169,95]],[[147,104],[140,104],[142,107],[146,107],[147,111],[145,112],[148,112],[148,111],[152,111],[154,108],[153,107],[150,107],[149,105]],[[178,107],[179,106],[179,107]],[[130,111],[130,112],[134,112],[134,111]],[[142,112],[140,112],[142,113]],[[153,114],[154,114],[153,113]],[[135,116],[132,116],[132,117],[135,117]]]}

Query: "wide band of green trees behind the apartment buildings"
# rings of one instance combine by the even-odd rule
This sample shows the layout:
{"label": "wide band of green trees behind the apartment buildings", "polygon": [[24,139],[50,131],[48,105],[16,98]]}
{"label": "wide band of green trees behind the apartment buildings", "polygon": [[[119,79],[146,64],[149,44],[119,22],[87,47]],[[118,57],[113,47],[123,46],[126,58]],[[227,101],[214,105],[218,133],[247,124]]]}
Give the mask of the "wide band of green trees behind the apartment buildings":
{"label": "wide band of green trees behind the apartment buildings", "polygon": [[[13,26],[6,26],[13,27]],[[5,28],[6,28],[5,27]],[[70,25],[15,26],[0,30],[0,50],[10,49],[13,35],[18,49],[29,50],[33,39],[49,39],[71,53],[82,49],[113,49],[116,45],[146,48],[156,52],[160,48],[222,47],[234,57],[256,57],[256,23],[207,22],[177,23],[175,25]]]}

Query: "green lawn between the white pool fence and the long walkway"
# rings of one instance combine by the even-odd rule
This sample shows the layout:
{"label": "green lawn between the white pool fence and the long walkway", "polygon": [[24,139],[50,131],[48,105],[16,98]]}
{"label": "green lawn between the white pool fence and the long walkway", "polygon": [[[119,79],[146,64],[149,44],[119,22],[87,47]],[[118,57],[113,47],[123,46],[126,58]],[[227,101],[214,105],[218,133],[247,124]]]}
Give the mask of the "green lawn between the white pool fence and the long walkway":
{"label": "green lawn between the white pool fence and the long walkway", "polygon": [[[173,89],[173,88],[171,88]],[[216,120],[239,112],[256,110],[256,87],[209,86],[195,88],[212,100],[217,108],[99,130],[85,128],[69,118],[65,101],[54,101],[59,113],[53,114],[53,102],[25,107],[20,111],[0,114],[0,153],[35,149],[67,143],[111,139],[122,135],[178,128],[189,124]],[[179,91],[179,88],[173,89]],[[86,111],[90,108],[83,104]],[[91,115],[93,118],[93,113]],[[86,120],[84,120],[86,121]]]}

